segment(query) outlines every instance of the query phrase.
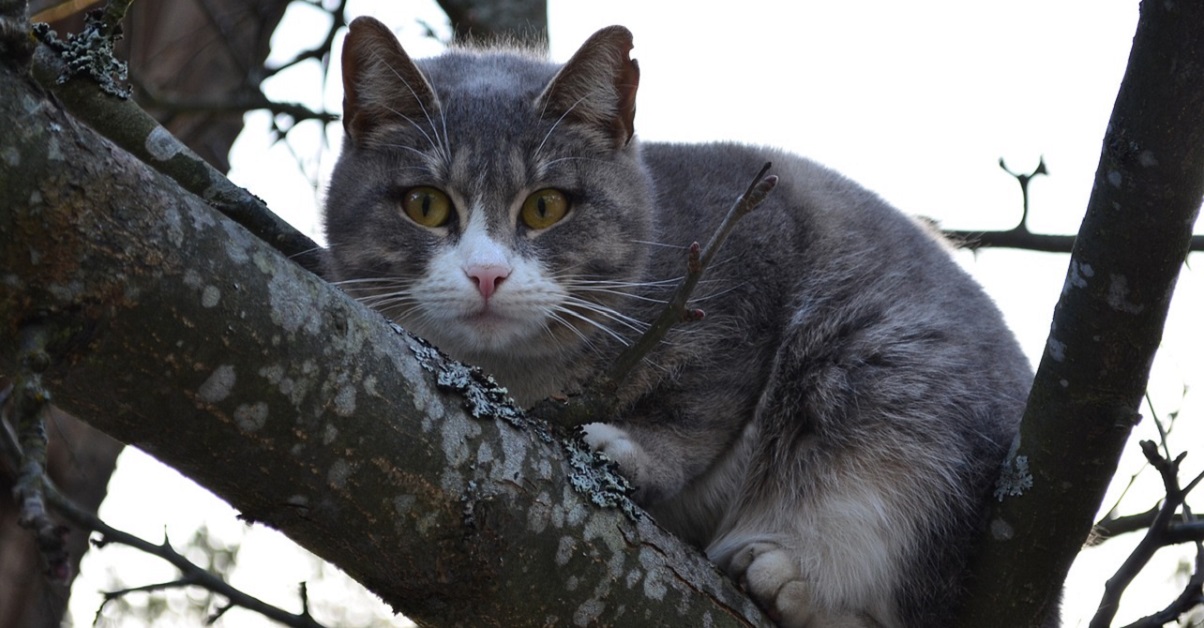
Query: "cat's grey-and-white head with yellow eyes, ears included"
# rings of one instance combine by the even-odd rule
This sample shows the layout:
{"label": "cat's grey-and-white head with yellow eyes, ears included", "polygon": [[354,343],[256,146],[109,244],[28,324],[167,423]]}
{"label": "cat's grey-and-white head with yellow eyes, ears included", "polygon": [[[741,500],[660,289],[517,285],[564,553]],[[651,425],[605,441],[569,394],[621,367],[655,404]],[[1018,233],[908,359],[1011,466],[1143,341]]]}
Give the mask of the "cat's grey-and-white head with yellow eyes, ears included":
{"label": "cat's grey-and-white head with yellow eyes, ears included", "polygon": [[379,22],[353,22],[325,213],[335,279],[486,368],[630,338],[616,309],[653,220],[631,47],[610,26],[563,66],[473,49],[414,63]]}

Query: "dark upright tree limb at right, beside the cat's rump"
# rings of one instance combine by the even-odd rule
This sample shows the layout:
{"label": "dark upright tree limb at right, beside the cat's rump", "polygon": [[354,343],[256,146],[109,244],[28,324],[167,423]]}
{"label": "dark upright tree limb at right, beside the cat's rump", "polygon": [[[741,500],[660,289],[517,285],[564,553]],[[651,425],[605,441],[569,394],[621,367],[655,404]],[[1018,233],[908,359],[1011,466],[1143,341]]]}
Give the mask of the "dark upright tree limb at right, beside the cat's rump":
{"label": "dark upright tree limb at right, beside the cat's rump", "polygon": [[961,626],[1038,626],[1056,609],[1140,419],[1202,196],[1204,4],[1141,2],[1087,214]]}

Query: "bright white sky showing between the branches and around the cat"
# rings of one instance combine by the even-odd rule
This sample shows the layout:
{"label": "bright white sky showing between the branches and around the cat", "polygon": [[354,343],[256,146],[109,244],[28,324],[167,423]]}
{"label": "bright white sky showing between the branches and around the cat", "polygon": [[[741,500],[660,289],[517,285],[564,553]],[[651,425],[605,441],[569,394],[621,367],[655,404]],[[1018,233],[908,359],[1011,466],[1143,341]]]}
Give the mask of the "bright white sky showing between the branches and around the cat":
{"label": "bright white sky showing between the branches and around the cat", "polygon": [[[636,129],[643,141],[733,140],[786,148],[844,172],[904,212],[955,229],[1011,227],[1020,217],[1019,186],[997,161],[1002,156],[1013,170],[1028,171],[1044,155],[1051,176],[1031,186],[1029,227],[1073,233],[1091,190],[1137,8],[1135,0],[551,0],[550,52],[566,60],[596,29],[624,24],[635,32],[633,57],[642,71]],[[415,18],[447,32],[430,0],[353,1],[350,12],[370,13],[395,26],[414,57],[439,51],[423,38]],[[277,31],[272,58],[290,58],[290,51],[311,46],[325,30],[320,13],[295,5]],[[337,71],[337,59],[332,65]],[[265,88],[272,97],[319,107],[320,85],[321,73],[309,64]],[[337,73],[325,99],[329,108],[340,109]],[[270,146],[266,120],[266,114],[248,115],[248,130],[231,154],[231,178],[320,238],[317,207],[336,153],[323,149],[313,123],[297,128],[287,144]],[[337,147],[340,137],[341,129],[332,125],[325,140]],[[992,250],[964,254],[962,261],[999,302],[1035,363],[1067,256]],[[1171,439],[1179,449],[1200,442],[1202,309],[1204,282],[1185,271],[1152,380],[1159,414],[1181,409],[1181,422],[1191,423],[1179,426]],[[1185,397],[1184,386],[1194,390]],[[1146,420],[1134,438],[1155,434]],[[1132,450],[1119,474],[1126,480],[1141,467],[1135,444]],[[1188,457],[1187,473],[1200,469],[1199,457],[1198,452]],[[149,493],[155,496],[155,509],[140,506],[144,499],[131,476],[165,475],[148,464],[123,458],[102,515],[157,538],[167,513],[188,510],[189,503],[205,498],[187,488],[158,488]],[[1157,478],[1147,473],[1131,491],[1125,510],[1143,511],[1159,494]],[[183,503],[165,504],[176,496]],[[1110,494],[1105,504],[1115,498]],[[207,505],[191,510],[213,513]],[[237,527],[228,513],[208,517],[214,521],[211,526]],[[167,526],[179,529],[173,538],[182,540],[195,523],[181,519],[172,517]],[[277,555],[266,550],[276,541],[259,539],[247,541],[246,551],[258,545],[258,553]],[[1086,626],[1103,581],[1135,540],[1115,540],[1081,555],[1067,592],[1067,627]],[[113,550],[102,553],[107,552]],[[1161,609],[1179,591],[1173,570],[1182,552],[1171,553],[1159,553],[1144,582],[1126,597],[1117,626]],[[72,600],[81,624],[90,621],[95,604],[89,606],[78,593],[102,586],[96,574],[106,568],[99,561],[85,562],[83,575],[93,580],[77,586]],[[248,567],[247,573],[260,574],[250,580],[270,581],[273,569],[278,575],[279,565],[288,564],[289,573],[277,579],[282,591],[275,594],[282,596],[278,604],[295,605],[293,587],[309,577],[308,563],[270,558],[268,564],[258,571]],[[142,583],[141,575],[126,577]],[[231,615],[228,626],[254,621]]]}

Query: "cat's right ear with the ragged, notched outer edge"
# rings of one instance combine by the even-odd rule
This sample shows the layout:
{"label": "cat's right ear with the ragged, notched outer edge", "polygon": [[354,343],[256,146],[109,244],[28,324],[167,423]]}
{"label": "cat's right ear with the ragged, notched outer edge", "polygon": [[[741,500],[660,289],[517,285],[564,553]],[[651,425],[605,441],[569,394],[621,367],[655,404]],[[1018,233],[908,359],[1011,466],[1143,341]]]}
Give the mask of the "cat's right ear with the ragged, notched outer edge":
{"label": "cat's right ear with the ragged, notched outer edge", "polygon": [[585,124],[615,148],[636,132],[639,66],[631,59],[631,31],[607,26],[582,45],[539,95],[544,115]]}

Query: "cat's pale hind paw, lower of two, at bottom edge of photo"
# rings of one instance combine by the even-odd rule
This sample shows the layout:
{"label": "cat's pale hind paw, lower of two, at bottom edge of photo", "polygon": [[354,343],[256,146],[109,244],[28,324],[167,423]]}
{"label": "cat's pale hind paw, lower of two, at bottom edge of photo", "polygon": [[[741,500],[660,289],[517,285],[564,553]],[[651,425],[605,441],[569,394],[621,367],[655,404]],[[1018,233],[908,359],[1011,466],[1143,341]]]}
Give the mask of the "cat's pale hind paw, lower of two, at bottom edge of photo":
{"label": "cat's pale hind paw, lower of two, at bottom edge of photo", "polygon": [[780,545],[745,545],[732,557],[728,573],[779,626],[826,626],[818,623],[821,615],[815,612],[810,585],[803,580],[798,561]]}

